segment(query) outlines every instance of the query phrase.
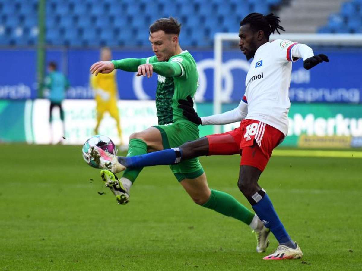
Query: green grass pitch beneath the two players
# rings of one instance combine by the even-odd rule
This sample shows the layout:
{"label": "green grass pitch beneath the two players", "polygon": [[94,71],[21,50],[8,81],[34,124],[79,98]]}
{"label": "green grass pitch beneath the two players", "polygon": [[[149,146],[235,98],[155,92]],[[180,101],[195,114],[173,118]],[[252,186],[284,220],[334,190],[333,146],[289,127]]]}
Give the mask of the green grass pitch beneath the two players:
{"label": "green grass pitch beneath the two players", "polygon": [[[119,206],[80,146],[0,152],[1,271],[362,268],[362,159],[352,155],[271,158],[260,185],[304,258],[263,261],[249,227],[195,205],[167,166],[145,168]],[[236,186],[237,155],[201,162],[211,188],[250,207]]]}

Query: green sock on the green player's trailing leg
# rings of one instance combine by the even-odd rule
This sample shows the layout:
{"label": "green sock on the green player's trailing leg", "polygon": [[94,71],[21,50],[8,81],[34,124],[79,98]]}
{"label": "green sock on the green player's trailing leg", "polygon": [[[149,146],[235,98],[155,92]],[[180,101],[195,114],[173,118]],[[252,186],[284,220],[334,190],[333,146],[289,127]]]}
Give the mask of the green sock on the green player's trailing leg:
{"label": "green sock on the green player's trailing leg", "polygon": [[250,225],[255,215],[232,195],[214,189],[211,189],[209,200],[202,206],[236,218],[247,225]]}

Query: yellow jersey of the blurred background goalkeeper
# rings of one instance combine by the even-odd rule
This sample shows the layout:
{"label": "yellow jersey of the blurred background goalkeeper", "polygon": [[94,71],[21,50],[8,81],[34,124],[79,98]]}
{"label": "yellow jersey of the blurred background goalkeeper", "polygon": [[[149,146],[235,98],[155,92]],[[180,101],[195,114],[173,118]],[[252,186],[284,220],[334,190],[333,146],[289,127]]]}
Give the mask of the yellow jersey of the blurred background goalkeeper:
{"label": "yellow jersey of the blurred background goalkeeper", "polygon": [[107,103],[118,99],[116,70],[111,73],[98,73],[90,77],[90,84],[96,92],[96,101]]}

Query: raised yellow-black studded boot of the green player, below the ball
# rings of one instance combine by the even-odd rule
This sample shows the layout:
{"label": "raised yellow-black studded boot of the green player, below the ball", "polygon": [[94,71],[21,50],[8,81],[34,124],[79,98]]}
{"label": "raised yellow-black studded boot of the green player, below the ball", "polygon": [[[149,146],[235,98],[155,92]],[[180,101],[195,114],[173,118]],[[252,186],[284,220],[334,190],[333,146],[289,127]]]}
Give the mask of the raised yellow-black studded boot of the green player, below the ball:
{"label": "raised yellow-black studded boot of the green player, below the ball", "polygon": [[123,185],[120,180],[118,180],[117,176],[107,169],[102,169],[101,178],[105,183],[105,186],[108,187],[115,195],[118,204],[125,205],[129,202],[129,189],[127,189],[126,186]]}

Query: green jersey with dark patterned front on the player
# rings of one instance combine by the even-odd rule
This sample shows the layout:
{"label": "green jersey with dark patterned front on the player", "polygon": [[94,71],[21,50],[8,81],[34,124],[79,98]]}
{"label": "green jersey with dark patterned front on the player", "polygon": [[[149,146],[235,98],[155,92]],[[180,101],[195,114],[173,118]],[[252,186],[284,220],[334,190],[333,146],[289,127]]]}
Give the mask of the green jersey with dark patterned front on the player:
{"label": "green jersey with dark patterned front on the player", "polygon": [[[147,59],[147,63],[156,62],[158,62],[156,56]],[[159,125],[187,120],[182,114],[182,109],[178,108],[178,100],[186,99],[188,95],[194,97],[198,87],[199,75],[196,62],[188,51],[182,51],[180,54],[170,57],[168,62],[179,64],[182,73],[177,77],[165,77],[158,74],[156,108]]]}

